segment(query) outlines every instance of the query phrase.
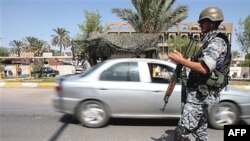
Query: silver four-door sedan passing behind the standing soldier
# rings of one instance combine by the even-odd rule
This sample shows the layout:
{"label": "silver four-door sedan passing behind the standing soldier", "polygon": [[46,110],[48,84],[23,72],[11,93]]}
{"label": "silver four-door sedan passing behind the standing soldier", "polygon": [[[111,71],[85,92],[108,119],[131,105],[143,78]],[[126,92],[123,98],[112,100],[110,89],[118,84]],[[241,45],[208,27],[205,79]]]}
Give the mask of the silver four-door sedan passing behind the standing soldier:
{"label": "silver four-door sedan passing behind the standing soldier", "polygon": [[[57,111],[75,115],[86,127],[103,127],[110,118],[180,118],[181,85],[164,112],[164,94],[176,65],[142,58],[111,59],[82,74],[63,76],[55,86]],[[250,94],[228,87],[220,103],[209,107],[209,125],[223,129],[250,117]]]}

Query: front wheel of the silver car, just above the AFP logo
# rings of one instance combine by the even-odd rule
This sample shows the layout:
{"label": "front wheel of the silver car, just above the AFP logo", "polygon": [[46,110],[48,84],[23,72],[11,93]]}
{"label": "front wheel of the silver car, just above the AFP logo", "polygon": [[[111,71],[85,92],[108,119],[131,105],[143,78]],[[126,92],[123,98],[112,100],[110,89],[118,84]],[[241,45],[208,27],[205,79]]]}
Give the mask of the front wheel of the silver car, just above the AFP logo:
{"label": "front wheel of the silver car, just above the AFP logo", "polygon": [[221,102],[209,112],[209,125],[215,129],[224,129],[224,125],[234,125],[239,122],[239,108],[231,102]]}

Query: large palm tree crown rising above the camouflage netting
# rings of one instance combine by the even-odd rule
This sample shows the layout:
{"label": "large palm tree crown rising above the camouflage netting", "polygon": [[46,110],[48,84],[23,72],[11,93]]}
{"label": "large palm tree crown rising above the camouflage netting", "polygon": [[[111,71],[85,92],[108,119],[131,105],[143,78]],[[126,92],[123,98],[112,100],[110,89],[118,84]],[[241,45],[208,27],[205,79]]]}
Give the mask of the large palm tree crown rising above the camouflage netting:
{"label": "large palm tree crown rising above the camouflage netting", "polygon": [[136,11],[113,8],[112,12],[127,21],[136,32],[158,33],[187,17],[187,6],[172,9],[175,0],[131,0]]}

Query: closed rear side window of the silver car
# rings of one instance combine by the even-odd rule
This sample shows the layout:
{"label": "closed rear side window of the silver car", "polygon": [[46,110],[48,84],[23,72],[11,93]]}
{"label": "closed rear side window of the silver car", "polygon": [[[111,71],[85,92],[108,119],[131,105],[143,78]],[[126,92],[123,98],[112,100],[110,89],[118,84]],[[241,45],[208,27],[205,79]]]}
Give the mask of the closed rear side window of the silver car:
{"label": "closed rear side window of the silver car", "polygon": [[140,76],[137,62],[117,63],[103,71],[100,80],[102,81],[134,81],[139,82]]}

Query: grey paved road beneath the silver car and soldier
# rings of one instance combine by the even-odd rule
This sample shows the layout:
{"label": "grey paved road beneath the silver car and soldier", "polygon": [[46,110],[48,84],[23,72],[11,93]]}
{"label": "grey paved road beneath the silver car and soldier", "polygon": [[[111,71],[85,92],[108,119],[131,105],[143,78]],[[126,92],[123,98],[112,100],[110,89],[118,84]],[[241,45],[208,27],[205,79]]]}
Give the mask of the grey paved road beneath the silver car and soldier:
{"label": "grey paved road beneath the silver car and soldier", "polygon": [[[173,141],[177,120],[112,119],[107,127],[90,129],[70,115],[57,113],[53,89],[0,88],[1,141]],[[209,129],[211,141],[223,130]]]}

